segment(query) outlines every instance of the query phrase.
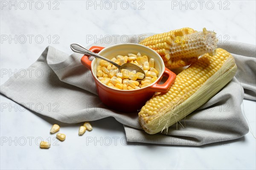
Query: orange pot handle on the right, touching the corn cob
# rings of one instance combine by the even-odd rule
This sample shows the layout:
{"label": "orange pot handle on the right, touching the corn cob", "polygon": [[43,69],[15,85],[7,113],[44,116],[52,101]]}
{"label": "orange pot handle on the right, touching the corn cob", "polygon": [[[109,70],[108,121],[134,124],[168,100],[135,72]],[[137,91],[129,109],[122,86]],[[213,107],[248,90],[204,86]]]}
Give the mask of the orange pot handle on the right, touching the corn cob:
{"label": "orange pot handle on the right, touching the corn cob", "polygon": [[163,76],[168,77],[166,82],[164,82],[161,85],[156,83],[148,87],[148,89],[150,91],[166,93],[169,90],[169,88],[171,88],[172,84],[175,82],[176,74],[170,71],[168,68],[165,68],[165,71],[163,72]]}

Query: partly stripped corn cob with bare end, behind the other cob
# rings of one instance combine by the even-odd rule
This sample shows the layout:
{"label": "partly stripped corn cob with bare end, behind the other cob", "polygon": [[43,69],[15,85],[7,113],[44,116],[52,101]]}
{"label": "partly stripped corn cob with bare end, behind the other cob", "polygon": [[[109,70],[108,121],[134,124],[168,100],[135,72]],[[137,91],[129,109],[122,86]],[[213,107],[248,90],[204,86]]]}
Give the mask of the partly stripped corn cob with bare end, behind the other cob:
{"label": "partly stripped corn cob with bare end, behind the other cob", "polygon": [[181,28],[163,34],[155,34],[145,38],[140,44],[156,51],[167,68],[180,68],[195,62],[199,56],[209,53],[214,55],[218,39],[216,33],[197,32],[192,28]]}

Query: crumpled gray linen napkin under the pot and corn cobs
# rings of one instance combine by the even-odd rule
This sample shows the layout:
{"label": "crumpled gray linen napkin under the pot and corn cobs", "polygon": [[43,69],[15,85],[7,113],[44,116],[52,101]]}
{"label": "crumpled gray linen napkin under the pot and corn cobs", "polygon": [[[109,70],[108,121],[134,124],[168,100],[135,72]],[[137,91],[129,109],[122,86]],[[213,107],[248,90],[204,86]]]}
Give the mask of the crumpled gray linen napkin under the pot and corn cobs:
{"label": "crumpled gray linen napkin under the pot and corn cobs", "polygon": [[[128,36],[129,42],[137,43],[141,34],[136,36]],[[122,42],[105,40],[93,45],[107,47],[116,43]],[[1,85],[0,92],[27,108],[29,103],[33,103],[38,107],[30,108],[32,111],[61,122],[78,123],[113,116],[124,125],[128,142],[203,145],[237,139],[248,132],[241,102],[243,98],[256,100],[256,48],[239,42],[219,44],[218,47],[235,57],[238,66],[236,77],[207,103],[180,121],[181,124],[171,126],[167,134],[149,135],[141,130],[137,113],[108,109],[97,96],[90,70],[81,65],[82,54],[68,55],[51,46],[26,69],[25,77],[15,74]],[[35,74],[29,74],[33,71]]]}

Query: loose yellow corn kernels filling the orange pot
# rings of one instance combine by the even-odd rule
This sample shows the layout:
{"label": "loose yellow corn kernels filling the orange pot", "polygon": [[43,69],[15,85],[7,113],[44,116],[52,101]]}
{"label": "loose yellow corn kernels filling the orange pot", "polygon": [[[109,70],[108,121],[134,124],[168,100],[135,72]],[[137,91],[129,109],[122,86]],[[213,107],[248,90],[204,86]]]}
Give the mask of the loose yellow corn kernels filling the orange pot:
{"label": "loose yellow corn kernels filling the orange pot", "polygon": [[[142,56],[140,53],[129,53],[127,56],[117,55],[111,61],[123,65],[125,63],[133,63],[142,68],[146,75],[136,71],[128,71],[126,69],[118,70],[116,66],[105,60],[100,60],[97,66],[96,77],[100,82],[110,88],[117,90],[134,90],[144,88],[151,85],[157,80],[158,71],[154,68],[154,59],[148,56]],[[146,76],[146,77],[144,77]],[[143,80],[142,80],[143,79]],[[139,81],[142,80],[142,81]]]}

